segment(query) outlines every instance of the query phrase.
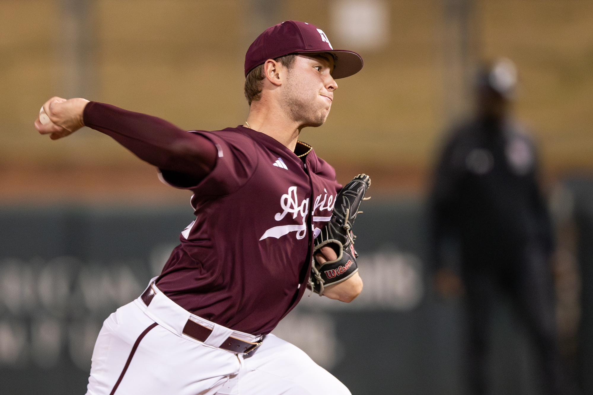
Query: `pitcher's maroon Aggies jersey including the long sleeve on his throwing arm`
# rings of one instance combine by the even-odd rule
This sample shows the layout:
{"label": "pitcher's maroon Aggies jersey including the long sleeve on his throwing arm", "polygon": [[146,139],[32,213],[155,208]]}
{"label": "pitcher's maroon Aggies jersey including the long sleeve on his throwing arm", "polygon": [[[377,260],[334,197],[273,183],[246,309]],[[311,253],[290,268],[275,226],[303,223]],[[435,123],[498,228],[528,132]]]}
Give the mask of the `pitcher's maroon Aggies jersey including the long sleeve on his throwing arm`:
{"label": "pitcher's maroon Aggies jersey including the long sleeve on his throwing arm", "polygon": [[[193,192],[196,220],[181,232],[157,286],[197,316],[254,335],[271,332],[307,289],[313,239],[341,189],[334,169],[312,149],[299,158],[243,126],[187,133],[94,102],[84,120],[160,167],[167,183]],[[203,161],[212,170],[195,184],[188,149],[176,148],[183,144],[216,150],[211,166]],[[295,149],[308,150],[301,143]]]}

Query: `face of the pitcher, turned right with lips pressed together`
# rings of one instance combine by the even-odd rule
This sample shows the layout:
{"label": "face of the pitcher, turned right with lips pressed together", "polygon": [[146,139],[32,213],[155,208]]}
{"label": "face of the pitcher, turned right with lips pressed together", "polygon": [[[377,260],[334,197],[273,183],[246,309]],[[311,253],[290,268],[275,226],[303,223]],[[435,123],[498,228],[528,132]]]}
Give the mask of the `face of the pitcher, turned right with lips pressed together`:
{"label": "face of the pitcher, turned right with lips pressed together", "polygon": [[286,77],[282,104],[302,126],[321,126],[330,113],[336,81],[329,54],[297,55]]}

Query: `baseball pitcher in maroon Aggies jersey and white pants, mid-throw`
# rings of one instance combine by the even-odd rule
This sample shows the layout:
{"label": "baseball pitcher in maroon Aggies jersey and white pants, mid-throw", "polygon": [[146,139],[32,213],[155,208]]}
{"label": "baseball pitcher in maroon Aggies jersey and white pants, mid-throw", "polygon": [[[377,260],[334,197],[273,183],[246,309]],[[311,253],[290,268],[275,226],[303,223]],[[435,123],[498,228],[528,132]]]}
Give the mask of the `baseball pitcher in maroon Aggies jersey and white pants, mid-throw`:
{"label": "baseball pitcher in maroon Aggies jersey and white pants, mid-throw", "polygon": [[105,320],[87,394],[350,393],[270,332],[307,289],[344,302],[362,290],[352,225],[371,181],[361,174],[342,188],[298,141],[325,122],[336,79],[362,64],[321,29],[285,21],[247,50],[250,112],[236,128],[186,132],[83,98],[43,104],[40,133],[88,126],[193,193],[196,219],[161,275]]}

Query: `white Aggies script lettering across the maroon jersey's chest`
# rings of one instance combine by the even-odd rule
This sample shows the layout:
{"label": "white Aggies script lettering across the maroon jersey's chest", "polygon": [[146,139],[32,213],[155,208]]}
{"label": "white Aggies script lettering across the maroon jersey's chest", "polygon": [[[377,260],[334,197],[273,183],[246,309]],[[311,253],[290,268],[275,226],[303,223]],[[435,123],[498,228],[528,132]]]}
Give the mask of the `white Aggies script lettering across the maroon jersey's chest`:
{"label": "white Aggies script lettering across the maroon jersey's chest", "polygon": [[[323,197],[323,201],[321,201],[321,195],[323,195],[323,193],[320,193],[319,196],[317,196],[317,198],[315,198],[315,205],[313,208],[313,212],[315,212],[315,210],[317,208],[319,208],[320,211],[327,210],[330,213],[333,210],[334,204],[336,203],[336,201],[334,200],[335,197],[330,195],[328,198],[327,190],[324,190],[324,191],[326,192],[326,194]],[[326,203],[326,199],[327,199],[327,206],[324,206],[324,204]],[[299,224],[299,225],[281,225],[278,227],[269,228],[267,231],[264,232],[264,234],[262,235],[260,240],[263,240],[264,238],[267,238],[267,237],[280,238],[285,234],[289,234],[290,232],[297,232],[297,234],[296,234],[297,240],[301,240],[301,238],[304,238],[305,235],[307,234],[307,223],[305,221],[305,217],[309,211],[309,198],[302,199],[301,203],[299,204],[298,196],[297,196],[297,187],[292,186],[292,187],[288,188],[288,193],[285,193],[280,198],[280,207],[282,208],[283,211],[281,213],[280,212],[276,213],[276,215],[274,216],[274,219],[276,219],[276,221],[282,220],[288,213],[291,213],[292,218],[294,218],[294,219],[296,219],[297,215],[300,214],[301,215],[301,224]],[[330,218],[331,218],[331,215],[330,216],[314,216],[313,220],[314,221],[329,221]],[[318,233],[317,229],[314,230],[314,235],[315,235],[315,233]]]}

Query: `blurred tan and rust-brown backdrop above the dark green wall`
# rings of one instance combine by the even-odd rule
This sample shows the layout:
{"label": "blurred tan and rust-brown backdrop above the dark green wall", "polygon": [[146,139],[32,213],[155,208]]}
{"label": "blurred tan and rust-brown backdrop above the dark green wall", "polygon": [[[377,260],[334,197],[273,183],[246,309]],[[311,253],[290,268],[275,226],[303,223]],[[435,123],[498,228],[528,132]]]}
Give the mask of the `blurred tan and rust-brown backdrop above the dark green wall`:
{"label": "blurred tan and rust-brown backdrop above the dark green wall", "polygon": [[517,63],[544,180],[593,173],[589,0],[0,0],[0,202],[186,203],[101,133],[39,136],[40,106],[82,96],[185,129],[239,125],[244,53],[287,19],[365,60],[301,135],[340,181],[365,172],[375,193],[421,196],[444,130],[471,111],[477,62],[498,56]]}

